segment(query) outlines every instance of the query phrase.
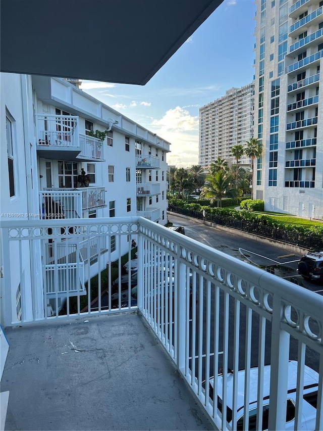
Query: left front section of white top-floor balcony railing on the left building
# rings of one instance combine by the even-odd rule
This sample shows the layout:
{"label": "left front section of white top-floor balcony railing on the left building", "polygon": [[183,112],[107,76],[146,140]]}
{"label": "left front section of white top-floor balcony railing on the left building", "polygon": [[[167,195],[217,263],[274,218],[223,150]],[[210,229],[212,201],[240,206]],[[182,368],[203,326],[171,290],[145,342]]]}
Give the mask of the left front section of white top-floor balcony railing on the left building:
{"label": "left front section of white top-floor balcony railing on the left building", "polygon": [[52,148],[79,149],[78,119],[72,115],[35,115],[37,145]]}

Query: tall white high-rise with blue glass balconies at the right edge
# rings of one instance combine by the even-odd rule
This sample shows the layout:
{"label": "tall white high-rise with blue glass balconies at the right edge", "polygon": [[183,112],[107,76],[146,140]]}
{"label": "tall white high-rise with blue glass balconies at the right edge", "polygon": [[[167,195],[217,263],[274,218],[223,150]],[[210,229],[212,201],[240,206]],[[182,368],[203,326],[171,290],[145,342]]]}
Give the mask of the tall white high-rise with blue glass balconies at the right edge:
{"label": "tall white high-rise with blue glass balconies at the right edge", "polygon": [[255,198],[265,209],[323,218],[323,2],[257,0]]}

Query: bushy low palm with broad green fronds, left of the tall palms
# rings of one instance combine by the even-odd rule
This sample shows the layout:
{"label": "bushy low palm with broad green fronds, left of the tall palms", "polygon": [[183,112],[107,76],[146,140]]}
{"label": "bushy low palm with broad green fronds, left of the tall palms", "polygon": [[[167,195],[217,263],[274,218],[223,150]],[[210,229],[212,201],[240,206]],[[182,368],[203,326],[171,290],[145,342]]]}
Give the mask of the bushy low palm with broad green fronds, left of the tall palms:
{"label": "bushy low palm with broad green fronds, left of the tall palms", "polygon": [[219,207],[222,207],[224,197],[236,198],[238,191],[232,187],[232,178],[223,170],[214,174],[209,174],[205,178],[205,184],[201,196],[209,199],[211,203],[218,200]]}

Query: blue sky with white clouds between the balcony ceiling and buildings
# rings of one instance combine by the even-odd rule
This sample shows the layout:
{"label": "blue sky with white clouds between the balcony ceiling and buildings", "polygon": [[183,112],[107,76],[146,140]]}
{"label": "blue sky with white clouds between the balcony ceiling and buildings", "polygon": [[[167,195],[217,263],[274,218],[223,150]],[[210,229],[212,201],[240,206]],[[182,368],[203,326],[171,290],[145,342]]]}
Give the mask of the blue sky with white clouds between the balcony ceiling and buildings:
{"label": "blue sky with white clouds between the balcony ceiling and buildings", "polygon": [[253,80],[255,11],[253,0],[224,0],[144,86],[81,88],[171,142],[169,165],[196,165],[199,108]]}

